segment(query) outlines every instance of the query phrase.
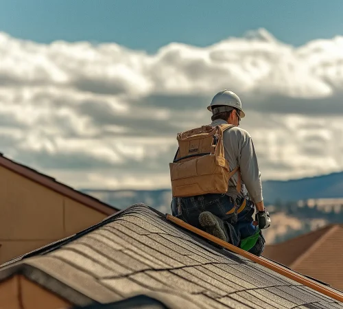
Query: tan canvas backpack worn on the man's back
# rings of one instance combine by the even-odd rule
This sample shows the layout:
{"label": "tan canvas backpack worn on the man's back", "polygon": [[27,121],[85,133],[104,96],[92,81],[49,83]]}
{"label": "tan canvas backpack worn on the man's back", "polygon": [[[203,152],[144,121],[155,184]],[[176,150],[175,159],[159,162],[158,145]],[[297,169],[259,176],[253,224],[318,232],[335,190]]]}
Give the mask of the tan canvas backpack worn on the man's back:
{"label": "tan canvas backpack worn on the man's back", "polygon": [[[239,171],[237,166],[230,172],[224,157],[223,133],[232,127],[230,124],[201,126],[178,133],[178,151],[169,163],[173,196],[227,192],[229,179]],[[236,189],[241,191],[240,172]]]}

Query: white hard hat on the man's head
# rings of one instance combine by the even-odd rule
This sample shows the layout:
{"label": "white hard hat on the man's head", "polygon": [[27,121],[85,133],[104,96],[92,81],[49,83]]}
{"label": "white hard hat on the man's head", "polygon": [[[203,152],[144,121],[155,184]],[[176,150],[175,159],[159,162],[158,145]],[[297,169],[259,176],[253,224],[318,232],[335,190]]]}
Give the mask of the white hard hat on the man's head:
{"label": "white hard hat on the man's head", "polygon": [[[218,105],[224,105],[222,107],[215,107]],[[231,90],[225,89],[220,92],[218,92],[212,99],[212,102],[209,106],[207,106],[207,109],[211,111],[214,114],[222,113],[225,111],[231,111],[232,108],[227,108],[226,106],[231,106],[233,108],[237,108],[240,111],[239,117],[244,118],[245,113],[243,109],[241,109],[241,99],[239,99],[239,96],[234,93]]]}

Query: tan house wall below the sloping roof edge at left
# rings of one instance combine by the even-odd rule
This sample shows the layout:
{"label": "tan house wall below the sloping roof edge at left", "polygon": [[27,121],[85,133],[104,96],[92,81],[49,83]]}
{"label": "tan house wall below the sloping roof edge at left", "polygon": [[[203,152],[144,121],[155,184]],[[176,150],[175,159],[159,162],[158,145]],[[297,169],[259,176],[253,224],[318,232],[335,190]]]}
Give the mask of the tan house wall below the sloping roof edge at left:
{"label": "tan house wall below the sloping roof edge at left", "polygon": [[107,216],[0,166],[0,264]]}

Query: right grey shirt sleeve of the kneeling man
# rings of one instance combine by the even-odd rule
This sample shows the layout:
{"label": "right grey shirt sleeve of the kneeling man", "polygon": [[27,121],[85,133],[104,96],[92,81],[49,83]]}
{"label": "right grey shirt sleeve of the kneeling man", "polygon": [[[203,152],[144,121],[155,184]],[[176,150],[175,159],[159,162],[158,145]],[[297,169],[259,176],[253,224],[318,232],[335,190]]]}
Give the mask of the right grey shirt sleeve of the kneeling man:
{"label": "right grey shirt sleeve of the kneeling man", "polygon": [[246,190],[252,201],[259,203],[263,201],[261,172],[257,163],[257,156],[252,138],[248,133],[241,144],[241,178],[246,185]]}

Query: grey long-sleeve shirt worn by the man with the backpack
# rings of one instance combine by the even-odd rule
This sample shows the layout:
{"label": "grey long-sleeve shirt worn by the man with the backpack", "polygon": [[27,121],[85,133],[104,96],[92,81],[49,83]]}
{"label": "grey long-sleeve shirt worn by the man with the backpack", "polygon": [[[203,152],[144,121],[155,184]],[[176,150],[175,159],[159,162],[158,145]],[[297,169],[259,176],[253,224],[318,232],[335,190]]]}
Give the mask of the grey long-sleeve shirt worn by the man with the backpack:
{"label": "grey long-sleeve shirt worn by the man with the backpack", "polygon": [[[225,120],[216,119],[211,123],[211,126],[218,126],[220,124],[228,124]],[[237,165],[240,165],[242,184],[245,185],[246,190],[252,201],[259,203],[263,200],[261,173],[257,163],[257,156],[255,153],[254,144],[249,133],[235,126],[224,131],[224,152],[225,158],[228,160],[230,171],[234,170]],[[235,198],[240,196],[236,190],[238,181],[238,172],[233,175],[228,184],[228,194]]]}

